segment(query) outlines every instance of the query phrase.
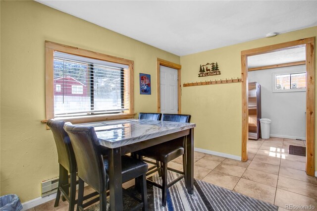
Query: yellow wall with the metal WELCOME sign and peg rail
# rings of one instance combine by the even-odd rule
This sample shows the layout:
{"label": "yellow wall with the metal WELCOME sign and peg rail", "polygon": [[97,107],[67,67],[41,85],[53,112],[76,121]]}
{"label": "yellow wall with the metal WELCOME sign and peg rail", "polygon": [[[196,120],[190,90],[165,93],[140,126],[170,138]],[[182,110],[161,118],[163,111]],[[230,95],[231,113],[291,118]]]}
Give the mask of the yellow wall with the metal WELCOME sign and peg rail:
{"label": "yellow wall with the metal WELCOME sign and peg rail", "polygon": [[[241,78],[241,51],[316,36],[317,27],[311,27],[272,38],[181,56],[182,84],[201,80]],[[218,62],[221,75],[199,78],[200,64],[207,62]],[[316,64],[315,52],[315,66]],[[241,102],[240,83],[183,87],[182,112],[190,113],[192,122],[197,123],[195,147],[241,156]],[[317,152],[317,145],[315,146]]]}

